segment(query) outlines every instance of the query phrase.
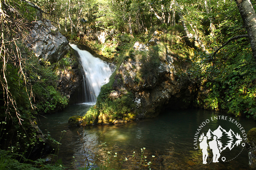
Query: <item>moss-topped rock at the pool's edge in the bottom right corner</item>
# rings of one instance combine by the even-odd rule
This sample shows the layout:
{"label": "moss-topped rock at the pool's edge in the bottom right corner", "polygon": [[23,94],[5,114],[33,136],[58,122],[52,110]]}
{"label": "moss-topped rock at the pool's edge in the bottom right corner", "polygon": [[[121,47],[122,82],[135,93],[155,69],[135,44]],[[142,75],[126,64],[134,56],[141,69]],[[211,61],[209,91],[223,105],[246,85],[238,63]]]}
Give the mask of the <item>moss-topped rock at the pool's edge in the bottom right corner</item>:
{"label": "moss-topped rock at the pool's edge in the bottom right corner", "polygon": [[245,141],[245,147],[249,154],[249,168],[251,170],[256,169],[256,128],[252,128],[247,133],[247,140]]}

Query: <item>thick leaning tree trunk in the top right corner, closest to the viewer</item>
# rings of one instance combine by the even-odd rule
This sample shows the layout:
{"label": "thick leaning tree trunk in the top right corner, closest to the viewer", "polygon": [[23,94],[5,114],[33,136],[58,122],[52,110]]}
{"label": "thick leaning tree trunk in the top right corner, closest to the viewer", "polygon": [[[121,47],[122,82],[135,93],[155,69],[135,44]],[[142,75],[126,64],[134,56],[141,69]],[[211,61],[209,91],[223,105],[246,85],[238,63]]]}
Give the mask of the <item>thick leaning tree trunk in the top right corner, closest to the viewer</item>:
{"label": "thick leaning tree trunk in the top right corner, closest to the viewer", "polygon": [[256,14],[250,0],[235,0],[249,36],[251,49],[256,60]]}

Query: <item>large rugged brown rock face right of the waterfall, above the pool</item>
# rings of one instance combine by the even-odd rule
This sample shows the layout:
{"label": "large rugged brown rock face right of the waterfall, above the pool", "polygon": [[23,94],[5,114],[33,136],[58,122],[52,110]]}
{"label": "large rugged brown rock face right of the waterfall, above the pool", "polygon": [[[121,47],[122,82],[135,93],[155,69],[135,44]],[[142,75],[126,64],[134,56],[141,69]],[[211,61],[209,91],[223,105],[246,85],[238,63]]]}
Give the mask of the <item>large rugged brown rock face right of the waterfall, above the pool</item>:
{"label": "large rugged brown rock face right of the waterfall, above the pool", "polygon": [[[157,41],[157,38],[154,40]],[[172,109],[185,109],[190,106],[195,94],[194,85],[188,78],[179,75],[186,70],[186,61],[179,60],[169,50],[150,54],[149,47],[139,42],[133,48],[134,53],[146,52],[146,59],[142,61],[143,58],[141,60],[135,57],[124,61],[117,71],[113,88],[134,94],[139,110],[136,117],[155,117],[163,106]]]}

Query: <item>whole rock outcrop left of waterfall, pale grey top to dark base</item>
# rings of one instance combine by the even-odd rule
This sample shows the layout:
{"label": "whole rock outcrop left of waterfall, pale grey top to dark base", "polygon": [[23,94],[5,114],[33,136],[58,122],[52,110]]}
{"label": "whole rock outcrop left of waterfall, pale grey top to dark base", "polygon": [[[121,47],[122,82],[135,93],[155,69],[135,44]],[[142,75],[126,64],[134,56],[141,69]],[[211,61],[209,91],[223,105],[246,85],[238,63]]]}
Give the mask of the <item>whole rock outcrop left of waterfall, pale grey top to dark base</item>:
{"label": "whole rock outcrop left of waterfall, pale grey top to dark base", "polygon": [[[83,73],[79,60],[72,52],[68,40],[49,20],[35,23],[28,37],[29,47],[40,61],[51,64],[57,73],[58,90],[69,99],[69,104],[79,103],[83,100]],[[64,62],[68,65],[63,65]],[[65,64],[65,63],[64,63]],[[59,108],[61,109],[61,108]],[[59,111],[56,107],[55,112]]]}

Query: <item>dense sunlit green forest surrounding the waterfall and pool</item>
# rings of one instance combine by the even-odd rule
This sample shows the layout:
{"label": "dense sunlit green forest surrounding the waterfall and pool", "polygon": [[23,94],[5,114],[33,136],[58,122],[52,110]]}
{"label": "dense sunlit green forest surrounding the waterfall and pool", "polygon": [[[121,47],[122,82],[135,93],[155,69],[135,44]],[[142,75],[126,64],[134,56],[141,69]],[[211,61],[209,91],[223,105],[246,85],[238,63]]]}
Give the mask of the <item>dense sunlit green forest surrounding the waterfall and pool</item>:
{"label": "dense sunlit green forest surrounding the waterfall and pool", "polygon": [[[37,58],[28,45],[33,41],[30,34],[34,25],[49,20],[69,41],[86,44],[117,67],[127,59],[127,52],[132,53],[136,41],[150,43],[154,32],[159,31],[162,35],[158,41],[179,53],[178,58],[188,65],[186,71],[178,73],[180,79],[185,76],[208,89],[204,99],[193,100],[194,106],[256,120],[255,1],[252,4],[238,0],[0,2],[0,169],[62,168],[61,163],[48,165],[45,160],[28,160],[34,149],[42,150],[36,143],[45,145],[48,141],[49,147],[41,155],[51,150],[49,141],[59,144],[50,135],[42,137],[44,140],[36,137],[42,135],[35,126],[36,115],[57,112],[69,102],[58,87],[56,68],[65,70],[74,64],[71,51],[52,64]],[[49,30],[49,34],[54,35],[55,31]],[[157,59],[149,62],[144,75],[158,66]],[[134,81],[143,81],[143,76],[137,78]],[[105,112],[111,110],[102,95],[98,100],[101,103],[97,107],[106,109]],[[120,103],[123,108],[132,105]],[[129,111],[127,108],[117,113]],[[117,117],[123,116],[120,114]]]}

